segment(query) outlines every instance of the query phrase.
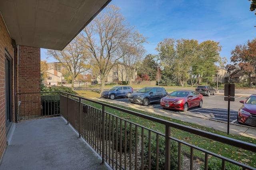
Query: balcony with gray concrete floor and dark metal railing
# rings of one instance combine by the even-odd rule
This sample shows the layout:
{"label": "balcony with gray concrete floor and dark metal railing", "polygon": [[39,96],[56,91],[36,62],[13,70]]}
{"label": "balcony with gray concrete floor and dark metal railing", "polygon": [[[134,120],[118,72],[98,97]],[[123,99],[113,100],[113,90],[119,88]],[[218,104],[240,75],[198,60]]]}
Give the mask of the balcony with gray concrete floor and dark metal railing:
{"label": "balcony with gray concrete floor and dark metal railing", "polygon": [[[20,103],[16,106],[16,121],[19,123],[16,124],[0,169],[182,169],[186,151],[191,170],[194,165],[190,158],[194,158],[196,152],[203,155],[204,169],[208,169],[209,158],[215,157],[221,160],[222,169],[229,163],[242,169],[255,170],[254,167],[176,139],[172,137],[171,129],[198,135],[198,141],[202,138],[212,139],[255,154],[254,144],[64,92],[52,94],[16,94],[16,103]],[[124,116],[119,117],[115,112]],[[164,130],[159,132],[144,127],[139,121],[129,121],[128,115],[163,125]],[[25,119],[36,120],[20,122]]]}

